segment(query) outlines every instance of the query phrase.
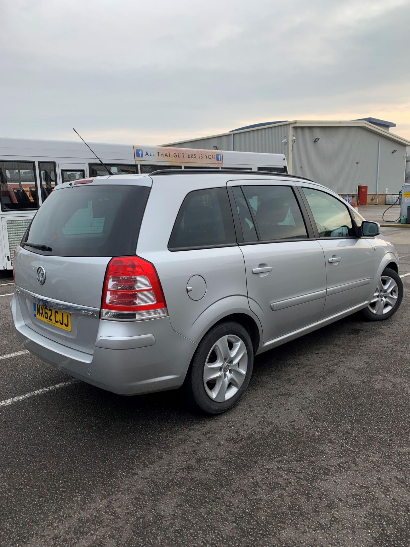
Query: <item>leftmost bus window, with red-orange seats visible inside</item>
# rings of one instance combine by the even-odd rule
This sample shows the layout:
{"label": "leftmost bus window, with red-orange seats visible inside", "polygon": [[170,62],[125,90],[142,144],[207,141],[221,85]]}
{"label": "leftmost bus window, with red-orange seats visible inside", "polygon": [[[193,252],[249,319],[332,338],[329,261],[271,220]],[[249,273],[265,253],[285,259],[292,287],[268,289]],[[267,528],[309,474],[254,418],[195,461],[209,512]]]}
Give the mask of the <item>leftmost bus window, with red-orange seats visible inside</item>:
{"label": "leftmost bus window, with red-orange seats visible inside", "polygon": [[38,208],[33,161],[0,161],[0,187],[2,211]]}

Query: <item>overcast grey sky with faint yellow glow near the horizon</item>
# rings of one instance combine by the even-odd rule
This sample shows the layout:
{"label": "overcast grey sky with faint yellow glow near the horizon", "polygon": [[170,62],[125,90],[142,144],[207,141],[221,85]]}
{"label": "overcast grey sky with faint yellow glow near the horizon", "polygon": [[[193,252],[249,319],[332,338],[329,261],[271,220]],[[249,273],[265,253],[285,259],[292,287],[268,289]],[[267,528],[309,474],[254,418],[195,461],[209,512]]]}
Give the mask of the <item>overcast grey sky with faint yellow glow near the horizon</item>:
{"label": "overcast grey sky with faint yellow glow near the horizon", "polygon": [[410,139],[410,0],[0,0],[0,20],[0,136],[372,116]]}

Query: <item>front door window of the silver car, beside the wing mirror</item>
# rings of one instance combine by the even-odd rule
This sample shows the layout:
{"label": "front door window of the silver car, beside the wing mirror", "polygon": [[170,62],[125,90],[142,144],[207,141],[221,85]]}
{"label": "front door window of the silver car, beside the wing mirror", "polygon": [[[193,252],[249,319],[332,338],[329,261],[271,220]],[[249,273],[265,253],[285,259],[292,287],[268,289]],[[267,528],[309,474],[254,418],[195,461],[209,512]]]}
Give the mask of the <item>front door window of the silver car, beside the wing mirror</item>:
{"label": "front door window of the silver car, beside the wing mirror", "polygon": [[354,236],[352,219],[348,208],[321,190],[303,188],[313,218],[318,228],[319,237],[349,237]]}

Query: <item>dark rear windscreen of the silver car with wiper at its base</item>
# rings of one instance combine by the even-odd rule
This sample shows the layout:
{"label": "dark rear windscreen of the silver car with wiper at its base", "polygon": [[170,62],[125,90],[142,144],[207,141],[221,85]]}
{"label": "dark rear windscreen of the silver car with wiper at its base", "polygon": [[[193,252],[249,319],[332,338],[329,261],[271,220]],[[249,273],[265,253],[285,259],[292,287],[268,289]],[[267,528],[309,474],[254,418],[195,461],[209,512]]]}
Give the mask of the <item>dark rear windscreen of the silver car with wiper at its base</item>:
{"label": "dark rear windscreen of the silver car with wiper at its base", "polygon": [[51,193],[33,218],[24,241],[51,248],[38,254],[112,257],[134,254],[149,188],[73,186]]}

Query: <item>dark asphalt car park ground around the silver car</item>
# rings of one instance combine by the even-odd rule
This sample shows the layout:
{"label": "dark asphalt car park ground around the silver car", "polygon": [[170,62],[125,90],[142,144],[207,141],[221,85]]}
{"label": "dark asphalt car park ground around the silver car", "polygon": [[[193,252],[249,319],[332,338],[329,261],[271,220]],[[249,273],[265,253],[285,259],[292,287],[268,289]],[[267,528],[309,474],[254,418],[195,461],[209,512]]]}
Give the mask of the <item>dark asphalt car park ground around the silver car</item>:
{"label": "dark asphalt car park ground around the silver car", "polygon": [[[383,231],[410,272],[410,231]],[[12,281],[0,276],[0,357],[22,351]],[[403,284],[389,321],[351,316],[257,357],[222,416],[179,392],[120,397],[83,382],[0,403],[0,545],[408,547]],[[69,380],[27,353],[0,371],[0,401]]]}

